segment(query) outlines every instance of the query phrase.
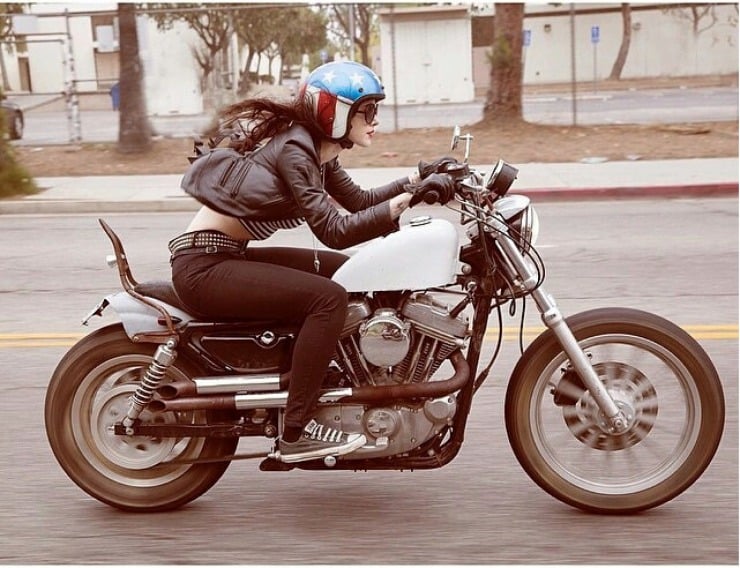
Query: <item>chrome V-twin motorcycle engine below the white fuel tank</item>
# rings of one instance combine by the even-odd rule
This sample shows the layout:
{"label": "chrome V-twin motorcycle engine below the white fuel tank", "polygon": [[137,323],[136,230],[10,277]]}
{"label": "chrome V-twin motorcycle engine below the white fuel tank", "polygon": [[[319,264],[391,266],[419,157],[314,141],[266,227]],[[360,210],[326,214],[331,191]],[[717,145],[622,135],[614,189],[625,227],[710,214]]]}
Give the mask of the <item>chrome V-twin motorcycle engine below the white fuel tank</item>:
{"label": "chrome V-twin motorcycle engine below the white fuel tank", "polygon": [[[451,317],[448,306],[428,293],[410,296],[400,310],[373,310],[367,299],[355,299],[335,361],[354,386],[419,383],[463,347],[468,334],[467,316]],[[456,411],[451,394],[411,404],[327,405],[319,414],[345,431],[366,434],[368,444],[344,458],[352,460],[412,451],[442,432]]]}

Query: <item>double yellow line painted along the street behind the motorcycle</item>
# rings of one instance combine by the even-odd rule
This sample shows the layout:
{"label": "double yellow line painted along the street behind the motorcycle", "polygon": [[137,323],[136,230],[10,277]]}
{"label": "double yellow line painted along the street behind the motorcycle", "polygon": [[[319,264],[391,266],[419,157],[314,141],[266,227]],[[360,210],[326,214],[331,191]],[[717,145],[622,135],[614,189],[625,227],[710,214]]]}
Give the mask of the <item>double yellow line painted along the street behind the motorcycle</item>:
{"label": "double yellow line painted along the street behind the motorcycle", "polygon": [[[683,329],[697,340],[738,339],[737,324],[686,325]],[[504,341],[519,339],[518,327],[505,327]],[[534,339],[545,331],[544,327],[525,327],[522,329],[524,339]],[[0,349],[22,349],[31,347],[71,347],[82,339],[85,333],[0,333]],[[498,338],[498,328],[486,330],[486,340]]]}

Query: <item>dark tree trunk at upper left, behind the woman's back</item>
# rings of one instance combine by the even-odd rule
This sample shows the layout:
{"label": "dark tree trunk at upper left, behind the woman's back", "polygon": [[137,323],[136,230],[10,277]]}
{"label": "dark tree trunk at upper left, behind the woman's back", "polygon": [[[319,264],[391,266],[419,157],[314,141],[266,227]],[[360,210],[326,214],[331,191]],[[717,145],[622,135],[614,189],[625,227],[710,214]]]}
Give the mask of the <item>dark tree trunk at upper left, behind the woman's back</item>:
{"label": "dark tree trunk at upper left, behind the woman's back", "polygon": [[118,150],[143,153],[151,146],[152,133],[144,99],[144,70],[139,58],[135,4],[118,4],[118,26],[121,69]]}

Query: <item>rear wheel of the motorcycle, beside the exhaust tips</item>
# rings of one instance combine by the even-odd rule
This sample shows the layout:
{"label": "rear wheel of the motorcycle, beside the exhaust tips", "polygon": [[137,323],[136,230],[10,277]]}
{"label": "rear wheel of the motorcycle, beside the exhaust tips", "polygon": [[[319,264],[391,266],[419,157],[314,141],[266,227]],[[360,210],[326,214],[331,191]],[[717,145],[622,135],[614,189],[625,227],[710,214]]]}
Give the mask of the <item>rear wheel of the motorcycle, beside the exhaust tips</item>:
{"label": "rear wheel of the motorcycle, beside the exhaust tips", "polygon": [[[233,455],[238,438],[156,438],[113,431],[151,362],[154,347],[129,341],[120,324],[75,345],[52,376],[46,396],[46,432],[67,475],[96,499],[124,510],[174,509],[210,489],[229,461],[170,464],[174,460]],[[197,371],[177,359],[164,381]],[[213,413],[151,413],[142,423],[207,424]],[[168,465],[170,464],[170,465]]]}

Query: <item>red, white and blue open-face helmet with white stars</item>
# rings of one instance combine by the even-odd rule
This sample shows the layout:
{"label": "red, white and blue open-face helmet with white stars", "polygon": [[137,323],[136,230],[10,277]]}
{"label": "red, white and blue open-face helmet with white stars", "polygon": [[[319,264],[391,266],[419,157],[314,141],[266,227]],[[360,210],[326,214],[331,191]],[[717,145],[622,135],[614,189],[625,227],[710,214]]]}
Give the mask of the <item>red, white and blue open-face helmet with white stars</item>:
{"label": "red, white and blue open-face helmet with white stars", "polygon": [[385,98],[373,70],[354,61],[332,61],[317,67],[306,77],[299,95],[311,105],[323,133],[334,141],[349,134],[352,114],[363,101]]}

